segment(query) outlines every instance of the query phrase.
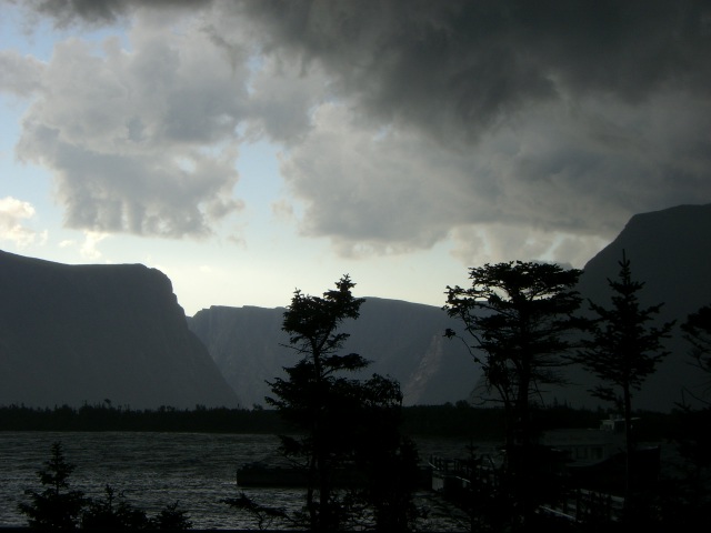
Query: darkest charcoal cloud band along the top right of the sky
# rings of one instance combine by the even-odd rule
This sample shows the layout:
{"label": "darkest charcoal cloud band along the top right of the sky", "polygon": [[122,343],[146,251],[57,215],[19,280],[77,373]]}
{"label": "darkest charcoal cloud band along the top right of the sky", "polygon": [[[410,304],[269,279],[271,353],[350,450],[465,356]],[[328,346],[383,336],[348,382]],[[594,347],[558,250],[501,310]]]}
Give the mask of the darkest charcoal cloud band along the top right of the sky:
{"label": "darkest charcoal cloud band along the top right of the sky", "polygon": [[[463,134],[565,95],[708,94],[703,1],[260,1],[270,46],[336,73],[378,117]],[[447,138],[447,141],[452,140]]]}

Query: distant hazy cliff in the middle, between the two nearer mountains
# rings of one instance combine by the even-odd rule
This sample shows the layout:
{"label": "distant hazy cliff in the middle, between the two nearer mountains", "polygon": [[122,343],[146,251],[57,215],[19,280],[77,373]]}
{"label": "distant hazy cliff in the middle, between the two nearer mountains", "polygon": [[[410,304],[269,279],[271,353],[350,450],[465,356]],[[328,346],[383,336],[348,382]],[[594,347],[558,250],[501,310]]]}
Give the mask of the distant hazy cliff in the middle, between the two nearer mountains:
{"label": "distant hazy cliff in the middle, between the two nearer mountains", "polygon": [[[266,381],[283,376],[282,368],[297,361],[284,348],[283,311],[212,306],[189,319],[247,405],[263,404],[270,394]],[[439,308],[368,298],[360,318],[343,324],[351,335],[343,352],[372,361],[364,375],[395,378],[408,405],[455,402],[468,398],[480,370],[461,343],[442,338],[452,326],[457,324]]]}

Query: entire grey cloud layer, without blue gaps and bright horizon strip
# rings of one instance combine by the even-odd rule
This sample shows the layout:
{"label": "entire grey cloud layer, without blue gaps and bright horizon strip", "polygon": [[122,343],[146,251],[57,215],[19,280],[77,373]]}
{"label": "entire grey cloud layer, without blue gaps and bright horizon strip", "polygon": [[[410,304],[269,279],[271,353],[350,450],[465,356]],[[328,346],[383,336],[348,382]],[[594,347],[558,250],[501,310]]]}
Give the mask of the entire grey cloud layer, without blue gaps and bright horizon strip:
{"label": "entire grey cloud layer, without blue gaps and bright horizon strip", "polygon": [[148,3],[34,2],[131,21],[130,52],[58,48],[26,120],[73,225],[209,233],[239,207],[237,128],[284,143],[302,231],[346,254],[450,235],[469,258],[518,229],[577,257],[573,235],[711,201],[708,2]]}

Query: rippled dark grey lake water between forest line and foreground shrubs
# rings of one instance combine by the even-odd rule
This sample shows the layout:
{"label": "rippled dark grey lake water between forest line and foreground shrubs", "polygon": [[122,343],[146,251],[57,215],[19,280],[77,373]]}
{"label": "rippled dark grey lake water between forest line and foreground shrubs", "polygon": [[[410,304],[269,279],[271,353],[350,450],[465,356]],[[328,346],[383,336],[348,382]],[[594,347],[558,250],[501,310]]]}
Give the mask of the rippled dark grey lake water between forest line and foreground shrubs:
{"label": "rippled dark grey lake water between forest line and foreground shrubs", "polygon": [[[221,500],[238,494],[239,465],[261,460],[279,445],[274,435],[0,432],[0,526],[27,525],[18,503],[28,501],[26,489],[41,490],[37,471],[50,457],[50,446],[57,441],[62,443],[66,460],[76,465],[70,477],[72,489],[103,497],[110,484],[149,516],[178,501],[196,529],[257,529],[248,515]],[[428,442],[421,444],[421,455],[427,456],[433,446],[440,453],[462,449],[460,443],[449,443],[444,446],[450,450],[441,450],[441,445]],[[301,492],[296,490],[244,492],[272,506],[293,510],[302,503]],[[459,529],[455,524],[447,527]]]}

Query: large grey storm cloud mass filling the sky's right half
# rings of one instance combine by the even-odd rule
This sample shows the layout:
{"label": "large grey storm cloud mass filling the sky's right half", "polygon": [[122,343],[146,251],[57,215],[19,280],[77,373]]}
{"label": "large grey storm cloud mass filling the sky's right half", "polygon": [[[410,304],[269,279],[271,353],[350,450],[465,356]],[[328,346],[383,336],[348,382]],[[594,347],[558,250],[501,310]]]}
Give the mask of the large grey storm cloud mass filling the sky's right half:
{"label": "large grey storm cloud mass filling the sky's right half", "polygon": [[[284,168],[309,234],[351,251],[470,224],[610,238],[637,212],[711,201],[709,2],[247,7],[267,50],[323,66],[352,110]],[[401,134],[347,148],[383,125]]]}

